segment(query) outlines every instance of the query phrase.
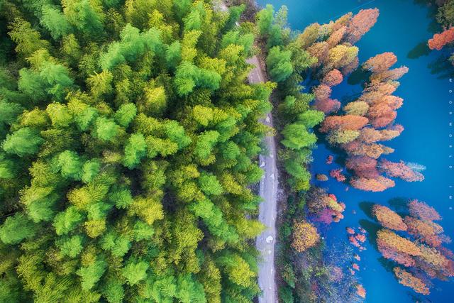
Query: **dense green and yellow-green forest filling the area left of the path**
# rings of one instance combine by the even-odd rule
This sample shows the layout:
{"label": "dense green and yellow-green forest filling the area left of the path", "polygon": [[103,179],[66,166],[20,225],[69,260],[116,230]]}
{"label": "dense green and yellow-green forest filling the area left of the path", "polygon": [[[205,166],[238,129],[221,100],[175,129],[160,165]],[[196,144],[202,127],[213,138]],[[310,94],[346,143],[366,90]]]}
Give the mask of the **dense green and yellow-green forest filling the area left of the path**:
{"label": "dense green and yellow-green forest filling the area left of the path", "polygon": [[244,7],[0,6],[0,302],[250,302],[272,86]]}

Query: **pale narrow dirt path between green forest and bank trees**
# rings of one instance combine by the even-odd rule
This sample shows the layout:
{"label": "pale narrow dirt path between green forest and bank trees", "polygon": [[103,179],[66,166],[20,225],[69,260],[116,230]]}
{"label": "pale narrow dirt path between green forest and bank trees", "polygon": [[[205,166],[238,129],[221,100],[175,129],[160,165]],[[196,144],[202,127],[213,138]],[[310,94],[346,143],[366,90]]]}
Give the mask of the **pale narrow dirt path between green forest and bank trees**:
{"label": "pale narrow dirt path between green forest and bank trees", "polygon": [[[255,65],[248,75],[250,83],[265,82],[260,63],[256,56],[247,60],[248,63]],[[262,121],[267,126],[272,127],[272,116]],[[259,156],[260,167],[265,170],[265,175],[260,180],[259,194],[263,202],[259,206],[259,220],[267,226],[255,241],[255,246],[260,251],[261,260],[259,261],[258,285],[263,291],[259,302],[277,302],[276,283],[275,283],[275,240],[276,240],[276,214],[277,214],[277,166],[276,166],[276,145],[275,138],[268,136],[265,138],[269,155]]]}

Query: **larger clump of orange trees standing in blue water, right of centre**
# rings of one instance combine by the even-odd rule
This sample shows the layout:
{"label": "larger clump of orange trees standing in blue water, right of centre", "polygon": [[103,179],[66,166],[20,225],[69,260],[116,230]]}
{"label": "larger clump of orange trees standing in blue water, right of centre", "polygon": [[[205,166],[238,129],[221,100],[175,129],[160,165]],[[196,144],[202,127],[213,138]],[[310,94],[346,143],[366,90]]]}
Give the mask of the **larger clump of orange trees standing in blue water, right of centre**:
{"label": "larger clump of orange trees standing in blue water, right of centre", "polygon": [[399,85],[396,80],[408,69],[389,70],[396,62],[393,53],[382,53],[367,60],[362,69],[370,72],[370,77],[362,95],[343,106],[343,115],[327,116],[319,128],[327,133],[326,141],[330,145],[340,147],[347,154],[345,167],[352,173],[350,184],[357,189],[382,192],[395,185],[389,177],[407,182],[424,179],[423,165],[381,158],[394,150],[380,142],[392,140],[404,130],[394,124],[403,101],[392,93]]}

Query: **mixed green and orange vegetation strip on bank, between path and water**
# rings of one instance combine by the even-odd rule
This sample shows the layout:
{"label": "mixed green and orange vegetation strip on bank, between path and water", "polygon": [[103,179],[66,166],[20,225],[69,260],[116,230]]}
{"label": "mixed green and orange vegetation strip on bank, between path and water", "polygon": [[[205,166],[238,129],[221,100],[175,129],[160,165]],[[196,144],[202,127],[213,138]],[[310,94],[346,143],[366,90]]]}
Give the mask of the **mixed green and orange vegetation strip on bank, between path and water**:
{"label": "mixed green and orange vegetation strip on bank, between path and water", "polygon": [[[333,194],[311,188],[308,165],[317,140],[313,128],[340,106],[331,99],[331,87],[358,67],[358,48],[352,43],[373,26],[378,11],[360,11],[355,16],[348,13],[336,22],[312,24],[301,34],[290,31],[286,16],[285,7],[275,12],[270,5],[258,13],[268,75],[277,82],[273,95],[277,111],[273,114],[279,133],[279,166],[287,179],[288,199],[281,206],[277,257],[282,279],[279,298],[282,302],[314,302],[316,298],[355,302],[360,299],[358,293],[362,296],[365,292],[350,273],[343,275],[342,268],[326,263],[328,251],[319,230],[342,219],[345,205]],[[304,77],[311,79],[309,93],[301,86]],[[345,253],[343,258],[353,255]],[[331,279],[333,271],[337,280]],[[343,283],[351,287],[342,288]]]}

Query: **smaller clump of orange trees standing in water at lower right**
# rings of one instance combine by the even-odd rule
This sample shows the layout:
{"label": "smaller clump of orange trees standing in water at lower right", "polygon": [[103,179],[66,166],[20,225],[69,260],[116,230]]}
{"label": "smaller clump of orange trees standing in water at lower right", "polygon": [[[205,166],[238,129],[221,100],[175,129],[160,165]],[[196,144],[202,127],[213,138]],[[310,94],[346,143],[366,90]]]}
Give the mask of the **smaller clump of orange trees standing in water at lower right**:
{"label": "smaller clump of orange trees standing in water at lower right", "polygon": [[372,207],[372,214],[384,227],[377,231],[377,248],[384,258],[404,267],[394,268],[399,283],[429,294],[430,280],[454,276],[454,254],[441,246],[450,239],[433,222],[441,219],[436,210],[417,200],[406,206],[404,218],[386,206]]}

